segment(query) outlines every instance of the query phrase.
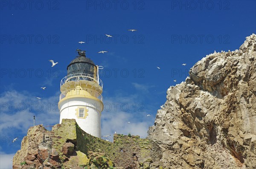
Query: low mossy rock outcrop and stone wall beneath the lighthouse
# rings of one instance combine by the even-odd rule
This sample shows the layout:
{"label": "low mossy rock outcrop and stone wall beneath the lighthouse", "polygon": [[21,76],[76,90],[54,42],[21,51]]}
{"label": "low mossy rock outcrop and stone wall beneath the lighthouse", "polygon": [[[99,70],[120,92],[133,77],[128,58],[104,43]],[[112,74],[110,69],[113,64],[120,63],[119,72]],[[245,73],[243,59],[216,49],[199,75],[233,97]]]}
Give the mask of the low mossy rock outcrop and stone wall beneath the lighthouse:
{"label": "low mossy rock outcrop and stone wall beneath the lighthouse", "polygon": [[63,119],[51,131],[30,127],[13,158],[13,169],[149,168],[161,159],[160,147],[139,136],[115,134],[113,143],[87,134],[75,119]]}

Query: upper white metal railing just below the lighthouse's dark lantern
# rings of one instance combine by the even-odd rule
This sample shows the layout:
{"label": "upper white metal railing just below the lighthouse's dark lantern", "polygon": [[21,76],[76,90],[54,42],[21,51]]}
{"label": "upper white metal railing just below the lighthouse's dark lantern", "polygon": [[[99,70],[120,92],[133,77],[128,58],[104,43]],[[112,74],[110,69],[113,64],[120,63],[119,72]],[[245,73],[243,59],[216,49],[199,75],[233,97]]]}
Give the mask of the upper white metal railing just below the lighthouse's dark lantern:
{"label": "upper white metal railing just below the lighthouse's dark lantern", "polygon": [[65,76],[63,79],[61,79],[61,86],[70,81],[79,82],[80,80],[95,82],[96,84],[100,85],[100,87],[102,87],[103,89],[103,82],[101,79],[99,79],[99,77],[96,77],[95,79],[93,75],[84,73],[76,73]]}

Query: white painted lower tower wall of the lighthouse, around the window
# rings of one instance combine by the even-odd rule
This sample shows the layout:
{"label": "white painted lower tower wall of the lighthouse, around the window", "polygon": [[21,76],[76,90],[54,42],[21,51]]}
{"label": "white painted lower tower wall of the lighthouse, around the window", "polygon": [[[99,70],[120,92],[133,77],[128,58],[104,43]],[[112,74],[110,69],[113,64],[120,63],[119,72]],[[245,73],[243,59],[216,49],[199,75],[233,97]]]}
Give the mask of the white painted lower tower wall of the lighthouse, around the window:
{"label": "white painted lower tower wall of the lighthouse, around the window", "polygon": [[[85,132],[95,137],[101,138],[101,110],[102,104],[99,101],[88,98],[71,98],[62,101],[60,106],[60,124],[62,119],[76,119],[76,123]],[[84,118],[77,118],[76,109],[78,107],[86,106],[88,109],[88,116]]]}

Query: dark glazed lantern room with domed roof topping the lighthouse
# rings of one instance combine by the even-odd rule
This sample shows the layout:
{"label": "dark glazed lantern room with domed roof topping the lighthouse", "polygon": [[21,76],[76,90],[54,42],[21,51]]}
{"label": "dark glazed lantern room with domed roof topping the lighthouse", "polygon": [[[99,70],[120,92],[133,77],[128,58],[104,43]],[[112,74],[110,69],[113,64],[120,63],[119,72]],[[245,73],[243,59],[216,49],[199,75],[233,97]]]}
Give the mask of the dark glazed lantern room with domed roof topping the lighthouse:
{"label": "dark glazed lantern room with domed roof topping the lighthouse", "polygon": [[67,75],[77,73],[95,75],[96,65],[90,58],[85,56],[85,51],[78,50],[78,54],[79,56],[76,56],[67,66]]}

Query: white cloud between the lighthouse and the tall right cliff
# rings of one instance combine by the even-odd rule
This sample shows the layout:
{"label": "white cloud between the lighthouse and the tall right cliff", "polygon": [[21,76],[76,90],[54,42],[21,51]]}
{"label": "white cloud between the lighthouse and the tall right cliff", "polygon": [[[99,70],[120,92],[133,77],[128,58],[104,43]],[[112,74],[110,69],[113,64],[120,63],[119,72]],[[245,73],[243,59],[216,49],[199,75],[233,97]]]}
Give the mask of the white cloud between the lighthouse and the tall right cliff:
{"label": "white cloud between the lighthouse and the tall right cliff", "polygon": [[146,95],[143,97],[140,93],[125,95],[120,90],[115,93],[118,94],[106,97],[103,101],[105,111],[102,112],[102,135],[113,136],[116,131],[119,134],[131,133],[145,138],[148,127],[154,124],[154,117],[147,117],[151,112],[148,112],[143,103]]}

